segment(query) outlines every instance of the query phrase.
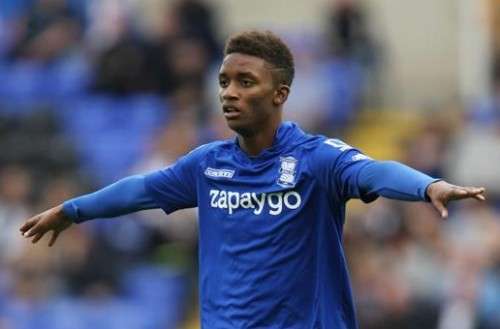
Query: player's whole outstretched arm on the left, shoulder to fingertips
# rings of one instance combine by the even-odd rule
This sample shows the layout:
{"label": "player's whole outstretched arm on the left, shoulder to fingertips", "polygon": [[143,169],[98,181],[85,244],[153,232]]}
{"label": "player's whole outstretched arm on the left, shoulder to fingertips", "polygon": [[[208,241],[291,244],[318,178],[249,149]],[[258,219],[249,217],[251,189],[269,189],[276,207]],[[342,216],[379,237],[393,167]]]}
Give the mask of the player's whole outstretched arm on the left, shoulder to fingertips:
{"label": "player's whole outstretched arm on the left, shoulder to fingertips", "polygon": [[38,242],[52,231],[49,246],[73,223],[131,212],[162,208],[166,213],[197,205],[196,173],[201,159],[210,150],[206,144],[174,164],[147,175],[130,176],[102,190],[68,200],[26,221],[21,233]]}

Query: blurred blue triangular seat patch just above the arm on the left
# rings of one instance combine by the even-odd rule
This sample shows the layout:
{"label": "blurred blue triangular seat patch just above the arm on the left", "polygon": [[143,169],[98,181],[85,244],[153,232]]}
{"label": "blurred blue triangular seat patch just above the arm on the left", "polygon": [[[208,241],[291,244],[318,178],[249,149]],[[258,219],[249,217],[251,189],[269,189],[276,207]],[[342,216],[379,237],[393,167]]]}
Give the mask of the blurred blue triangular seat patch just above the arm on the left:
{"label": "blurred blue triangular seat patch just above the arm on the left", "polygon": [[143,158],[147,143],[165,123],[167,107],[150,95],[92,95],[65,102],[58,113],[85,171],[105,184],[127,175]]}

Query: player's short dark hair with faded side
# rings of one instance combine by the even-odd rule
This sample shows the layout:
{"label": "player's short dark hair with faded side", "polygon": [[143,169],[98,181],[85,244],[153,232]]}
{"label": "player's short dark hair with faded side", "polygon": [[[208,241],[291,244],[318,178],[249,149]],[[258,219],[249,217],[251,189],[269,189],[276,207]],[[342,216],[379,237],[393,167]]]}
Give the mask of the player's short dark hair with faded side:
{"label": "player's short dark hair with faded side", "polygon": [[232,53],[262,58],[274,66],[273,77],[279,83],[292,85],[295,75],[293,55],[288,46],[270,31],[244,31],[232,35],[224,47],[224,56]]}

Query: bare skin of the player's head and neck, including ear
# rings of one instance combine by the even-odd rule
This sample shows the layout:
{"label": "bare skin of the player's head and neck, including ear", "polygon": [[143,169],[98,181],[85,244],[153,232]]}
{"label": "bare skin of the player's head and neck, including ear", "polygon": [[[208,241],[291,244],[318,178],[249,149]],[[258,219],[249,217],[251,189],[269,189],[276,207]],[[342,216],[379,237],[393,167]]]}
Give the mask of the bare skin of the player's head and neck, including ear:
{"label": "bare skin of the player's head and neck, including ear", "polygon": [[256,156],[270,147],[282,121],[290,88],[276,81],[265,60],[229,54],[219,70],[219,99],[229,128],[243,151]]}

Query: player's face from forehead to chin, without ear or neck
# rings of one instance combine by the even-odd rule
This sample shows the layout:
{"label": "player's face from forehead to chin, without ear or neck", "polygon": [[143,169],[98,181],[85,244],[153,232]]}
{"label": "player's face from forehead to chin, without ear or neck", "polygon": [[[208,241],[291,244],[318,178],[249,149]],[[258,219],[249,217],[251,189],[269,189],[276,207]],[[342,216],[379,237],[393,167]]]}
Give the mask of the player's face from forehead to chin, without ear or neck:
{"label": "player's face from forehead to chin, without ear or neck", "polygon": [[229,128],[253,135],[280,116],[270,65],[239,53],[224,58],[219,71],[219,99]]}

